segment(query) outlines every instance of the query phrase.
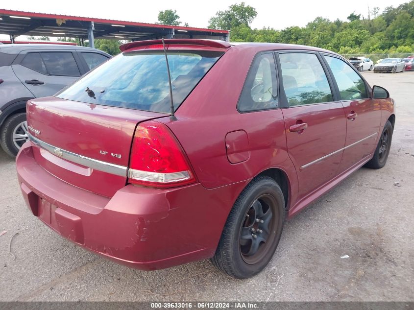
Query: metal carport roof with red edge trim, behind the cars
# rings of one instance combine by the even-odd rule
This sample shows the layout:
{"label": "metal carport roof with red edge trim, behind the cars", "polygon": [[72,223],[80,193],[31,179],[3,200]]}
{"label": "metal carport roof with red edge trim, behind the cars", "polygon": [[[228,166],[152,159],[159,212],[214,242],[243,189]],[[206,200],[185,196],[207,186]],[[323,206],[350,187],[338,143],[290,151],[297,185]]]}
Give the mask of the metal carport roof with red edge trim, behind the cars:
{"label": "metal carport roof with red edge trim, behind the cars", "polygon": [[[117,40],[150,40],[165,38],[218,39],[229,41],[229,31],[208,28],[125,22],[99,18],[56,15],[0,9],[0,34],[10,40],[20,35]],[[93,47],[93,44],[92,46]]]}

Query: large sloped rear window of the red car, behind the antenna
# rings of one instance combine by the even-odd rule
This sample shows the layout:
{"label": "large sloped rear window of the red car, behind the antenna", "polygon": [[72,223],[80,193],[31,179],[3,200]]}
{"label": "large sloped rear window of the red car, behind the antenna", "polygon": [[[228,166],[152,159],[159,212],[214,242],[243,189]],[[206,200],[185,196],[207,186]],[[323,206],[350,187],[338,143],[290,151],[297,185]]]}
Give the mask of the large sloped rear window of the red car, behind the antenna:
{"label": "large sloped rear window of the red car, behind the antenna", "polygon": [[[168,51],[175,109],[222,54],[223,52],[217,51]],[[86,92],[87,88],[92,92]],[[164,52],[123,52],[56,96],[100,105],[168,113],[170,88]]]}

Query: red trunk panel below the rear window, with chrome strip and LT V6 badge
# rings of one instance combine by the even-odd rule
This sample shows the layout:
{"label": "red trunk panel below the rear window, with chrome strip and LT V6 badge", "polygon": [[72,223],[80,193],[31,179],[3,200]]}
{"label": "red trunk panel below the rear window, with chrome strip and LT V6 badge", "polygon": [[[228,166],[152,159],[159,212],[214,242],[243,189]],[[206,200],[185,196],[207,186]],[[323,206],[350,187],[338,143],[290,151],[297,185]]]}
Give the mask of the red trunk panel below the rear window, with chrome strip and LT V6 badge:
{"label": "red trunk panel below the rear window, with chrome strip and LT V6 badge", "polygon": [[35,160],[59,179],[108,197],[125,186],[137,123],[163,116],[55,97],[27,104]]}

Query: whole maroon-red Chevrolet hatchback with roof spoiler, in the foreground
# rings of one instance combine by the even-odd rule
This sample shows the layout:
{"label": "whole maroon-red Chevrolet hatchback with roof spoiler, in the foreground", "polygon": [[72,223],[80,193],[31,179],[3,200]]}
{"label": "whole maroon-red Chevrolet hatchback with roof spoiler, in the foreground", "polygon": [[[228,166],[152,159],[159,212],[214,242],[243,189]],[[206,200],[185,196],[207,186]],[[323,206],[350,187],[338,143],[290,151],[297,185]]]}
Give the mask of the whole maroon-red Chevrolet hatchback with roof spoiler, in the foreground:
{"label": "whole maroon-red Chevrolet hatchback with roof spoiler, in the foreground", "polygon": [[387,161],[394,102],[333,52],[192,39],[121,50],[28,101],[16,159],[33,215],[94,253],[144,270],[212,258],[250,277],[286,218]]}

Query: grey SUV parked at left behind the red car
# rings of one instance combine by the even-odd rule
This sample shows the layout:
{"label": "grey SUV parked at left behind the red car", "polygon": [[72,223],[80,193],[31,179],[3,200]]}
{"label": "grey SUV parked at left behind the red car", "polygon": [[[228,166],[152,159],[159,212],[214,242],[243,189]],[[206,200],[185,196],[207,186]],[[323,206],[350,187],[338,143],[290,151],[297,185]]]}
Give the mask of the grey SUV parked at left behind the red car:
{"label": "grey SUV parked at left behind the red car", "polygon": [[16,156],[28,139],[26,101],[53,95],[111,56],[78,46],[17,44],[0,47],[0,144]]}

